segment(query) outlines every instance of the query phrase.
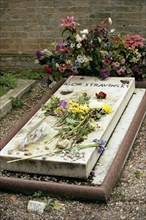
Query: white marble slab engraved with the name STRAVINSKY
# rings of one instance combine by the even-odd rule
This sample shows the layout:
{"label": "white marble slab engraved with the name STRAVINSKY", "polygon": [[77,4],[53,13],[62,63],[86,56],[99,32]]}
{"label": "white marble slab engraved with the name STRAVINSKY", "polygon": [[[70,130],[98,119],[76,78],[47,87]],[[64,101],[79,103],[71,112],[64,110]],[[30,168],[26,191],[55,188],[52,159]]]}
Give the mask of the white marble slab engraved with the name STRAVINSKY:
{"label": "white marble slab engraved with the name STRAVINSKY", "polygon": [[[94,139],[108,141],[112,132],[118,123],[121,114],[126,108],[132,94],[135,90],[134,78],[107,78],[99,80],[96,77],[71,76],[53,96],[59,96],[63,100],[76,99],[79,94],[86,92],[92,99],[96,99],[95,93],[105,92],[106,99],[101,100],[109,104],[113,112],[102,117],[98,121],[100,128],[90,133],[82,144],[93,143]],[[72,91],[68,95],[63,95],[62,91]],[[49,100],[47,101],[49,102]],[[28,173],[48,174],[56,176],[67,176],[75,178],[87,178],[99,158],[96,148],[86,148],[81,151],[81,158],[67,157],[62,154],[45,155],[50,149],[55,148],[57,139],[50,143],[52,137],[56,134],[53,125],[56,120],[53,116],[45,116],[44,111],[40,109],[12,140],[1,150],[1,169]],[[43,138],[40,138],[33,144],[28,144],[22,150],[20,146],[24,145],[27,135],[32,129],[39,127],[49,131]],[[35,130],[35,129],[34,129]],[[19,149],[18,149],[19,148]],[[26,148],[26,149],[25,149]],[[37,156],[33,159],[21,160],[19,162],[7,163],[15,158],[25,158],[26,152],[29,155]],[[38,157],[38,155],[40,155]]]}

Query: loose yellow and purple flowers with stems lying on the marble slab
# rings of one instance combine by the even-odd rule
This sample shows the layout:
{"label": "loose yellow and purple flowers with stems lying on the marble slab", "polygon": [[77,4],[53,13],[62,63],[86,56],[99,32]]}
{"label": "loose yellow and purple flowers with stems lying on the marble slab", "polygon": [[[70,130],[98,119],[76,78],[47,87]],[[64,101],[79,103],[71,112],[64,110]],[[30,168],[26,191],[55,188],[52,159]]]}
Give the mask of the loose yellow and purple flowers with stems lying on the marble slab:
{"label": "loose yellow and purple flowers with stems lying on the marble slab", "polygon": [[101,117],[112,113],[112,108],[101,101],[105,98],[104,92],[96,93],[94,99],[91,99],[87,93],[68,101],[56,96],[50,98],[49,102],[43,106],[43,110],[46,115],[57,117],[55,128],[58,132],[55,137],[58,138],[58,149],[69,149],[75,152],[96,147],[99,154],[104,151],[105,140],[94,139],[93,143],[86,145],[82,142],[91,132],[99,129],[98,121]]}

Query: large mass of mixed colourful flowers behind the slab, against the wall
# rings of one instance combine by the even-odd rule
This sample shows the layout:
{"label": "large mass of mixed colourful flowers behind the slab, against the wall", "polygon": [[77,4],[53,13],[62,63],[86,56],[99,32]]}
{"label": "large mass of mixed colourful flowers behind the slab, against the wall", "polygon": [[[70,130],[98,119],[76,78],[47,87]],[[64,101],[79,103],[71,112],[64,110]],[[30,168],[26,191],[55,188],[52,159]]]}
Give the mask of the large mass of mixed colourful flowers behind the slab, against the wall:
{"label": "large mass of mixed colourful flowers behind the slab, against the wall", "polygon": [[70,75],[146,78],[145,39],[140,35],[117,33],[111,18],[94,29],[77,32],[79,23],[74,16],[67,16],[61,27],[63,41],[36,52],[36,62],[45,65],[49,80]]}

